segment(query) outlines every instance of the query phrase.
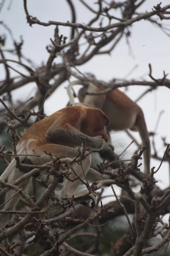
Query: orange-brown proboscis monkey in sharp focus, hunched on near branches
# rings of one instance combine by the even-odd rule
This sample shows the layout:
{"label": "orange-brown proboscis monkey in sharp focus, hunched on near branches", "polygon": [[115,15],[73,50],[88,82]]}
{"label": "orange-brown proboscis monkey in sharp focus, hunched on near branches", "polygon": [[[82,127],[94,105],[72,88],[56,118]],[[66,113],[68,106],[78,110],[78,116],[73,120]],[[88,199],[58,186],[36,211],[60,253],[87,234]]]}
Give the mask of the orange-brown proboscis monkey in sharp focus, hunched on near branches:
{"label": "orange-brown proboscis monkey in sharp focus, hunched on near branches", "polygon": [[[52,115],[36,122],[23,134],[22,139],[17,144],[17,153],[24,154],[20,156],[21,163],[28,163],[34,165],[42,165],[51,161],[50,156],[44,153],[44,150],[52,151],[55,157],[76,157],[78,154],[77,148],[81,145],[81,136],[85,137],[88,147],[94,150],[101,150],[103,140],[108,141],[105,126],[109,125],[108,117],[101,110],[97,108],[88,108],[83,105],[74,107],[66,107],[53,113]],[[33,157],[29,155],[41,155],[40,157]],[[23,172],[15,167],[16,161],[13,159],[3,174],[0,176],[1,180],[8,177],[8,183],[13,183],[14,180],[21,177]],[[93,169],[89,169],[91,165],[91,156],[82,161],[82,167],[78,163],[74,163],[78,175],[84,179],[85,176],[82,169],[87,175],[88,180],[96,181],[102,180],[103,175]],[[89,171],[89,172],[88,172]],[[70,175],[75,177],[75,175]],[[18,187],[25,188],[28,180],[20,183]],[[71,182],[65,180],[64,186],[59,194],[59,198],[79,198],[87,195],[88,190],[74,192],[81,183],[80,180]],[[14,206],[19,200],[19,195],[15,195],[14,190],[6,193],[6,202],[3,210],[14,209]],[[14,196],[14,197],[12,197]],[[90,195],[90,198],[94,195]],[[0,227],[4,227],[11,220],[11,214],[0,214]]]}

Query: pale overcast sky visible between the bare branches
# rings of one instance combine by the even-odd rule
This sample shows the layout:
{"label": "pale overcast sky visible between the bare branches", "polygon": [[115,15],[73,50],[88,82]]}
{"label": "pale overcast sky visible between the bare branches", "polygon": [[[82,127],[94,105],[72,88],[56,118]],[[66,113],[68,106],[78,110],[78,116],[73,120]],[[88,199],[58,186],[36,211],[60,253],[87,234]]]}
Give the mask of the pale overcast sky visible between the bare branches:
{"label": "pale overcast sky visible between the bare branches", "polygon": [[[45,47],[50,44],[50,38],[54,35],[54,26],[43,27],[39,25],[33,25],[30,27],[26,23],[26,15],[23,9],[23,0],[13,0],[10,11],[7,10],[10,0],[6,0],[3,10],[0,12],[0,20],[4,21],[6,25],[14,33],[15,40],[19,41],[20,35],[23,36],[24,54],[31,58],[37,65],[40,65],[42,61],[46,62],[48,58],[48,52]],[[70,9],[65,0],[28,0],[28,12],[30,15],[37,17],[39,20],[48,22],[48,20],[71,21]],[[86,0],[88,4],[92,4],[95,1]],[[160,0],[147,0],[146,3],[140,8],[140,12],[152,11],[154,5],[158,4]],[[162,5],[170,4],[169,0],[162,0]],[[93,16],[79,0],[73,0],[74,6],[77,11],[77,22],[87,23]],[[97,6],[94,6],[97,8]],[[163,20],[163,24],[166,24],[170,28],[170,20]],[[98,24],[95,24],[96,26]],[[137,64],[138,68],[133,72],[129,79],[139,79],[139,77],[147,74],[148,63],[152,65],[153,76],[161,78],[163,70],[166,73],[170,73],[170,37],[164,34],[158,27],[153,26],[151,23],[145,20],[141,20],[133,24],[130,27],[131,37],[129,38],[130,46],[133,51],[133,56],[130,54],[127,47],[125,37],[122,38],[120,43],[114,49],[111,55],[99,55],[94,57],[91,61],[79,67],[82,72],[92,72],[96,75],[97,79],[104,79],[109,81],[113,77],[124,78],[127,73]],[[69,38],[70,30],[66,27],[59,26],[59,34],[63,34]],[[0,33],[8,33],[0,26]],[[8,35],[6,41],[6,48],[11,48],[11,41]],[[6,58],[14,58],[11,55],[6,55]],[[60,62],[59,58],[55,59],[56,63]],[[19,68],[19,67],[18,67]],[[1,78],[4,78],[3,66],[0,65]],[[12,72],[13,73],[13,72]],[[16,74],[15,74],[16,75]],[[170,76],[168,76],[170,79]],[[144,79],[149,79],[147,75]],[[61,88],[57,89],[55,93],[45,103],[45,113],[51,114],[60,108],[65,107],[68,102],[68,96],[64,86],[67,86],[68,82],[65,82]],[[28,84],[22,89],[15,90],[13,92],[14,99],[28,99],[31,95],[34,95],[37,87],[33,84]],[[135,100],[147,87],[133,86],[128,88],[127,95],[131,99]],[[124,88],[121,90],[125,90]],[[29,95],[29,96],[28,96]],[[156,147],[159,149],[160,156],[163,155],[164,148],[160,137],[166,136],[167,142],[170,143],[170,90],[166,87],[160,87],[156,92],[148,93],[138,103],[144,111],[144,116],[147,123],[148,131],[153,131],[157,117],[161,110],[165,113],[161,118],[161,122],[158,127],[158,135],[156,139]],[[121,141],[116,141],[116,136]],[[137,133],[133,135],[139,140]],[[116,141],[117,145],[121,145],[118,149],[122,151],[130,139],[123,133],[113,133],[113,141]],[[130,150],[133,153],[133,148]],[[151,161],[151,166],[159,166],[159,162],[156,160]],[[159,186],[164,188],[168,186],[169,182],[169,169],[168,164],[164,163],[156,174],[156,178],[160,181]],[[107,190],[108,193],[108,190]]]}

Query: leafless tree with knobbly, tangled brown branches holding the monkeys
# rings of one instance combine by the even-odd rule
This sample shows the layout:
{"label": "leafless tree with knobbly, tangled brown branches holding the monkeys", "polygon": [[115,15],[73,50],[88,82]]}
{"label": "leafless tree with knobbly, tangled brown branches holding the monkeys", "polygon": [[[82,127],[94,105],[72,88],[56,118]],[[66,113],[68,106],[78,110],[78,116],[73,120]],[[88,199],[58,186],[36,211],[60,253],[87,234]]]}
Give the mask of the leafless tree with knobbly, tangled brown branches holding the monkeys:
{"label": "leafless tree with knobbly, tangled brown branches holding the monkeys", "polygon": [[[146,80],[118,80],[113,78],[110,82],[101,82],[92,74],[85,74],[79,70],[79,66],[87,63],[94,56],[110,54],[116,45],[119,44],[122,37],[126,37],[128,43],[131,25],[137,21],[147,20],[156,25],[158,29],[167,32],[161,21],[170,19],[170,5],[162,6],[161,3],[158,3],[153,6],[152,11],[139,13],[139,7],[146,0],[98,0],[93,5],[88,4],[88,1],[85,0],[79,1],[84,5],[84,8],[90,10],[94,15],[93,19],[89,20],[87,24],[77,23],[77,14],[74,1],[72,0],[67,0],[72,15],[71,22],[59,22],[57,20],[40,21],[38,17],[33,16],[36,13],[33,15],[29,14],[27,0],[23,0],[23,12],[26,14],[26,21],[29,26],[54,27],[54,37],[50,38],[51,45],[46,47],[49,57],[45,64],[38,67],[36,67],[31,59],[25,57],[22,49],[23,39],[21,38],[20,42],[15,41],[13,32],[6,25],[5,21],[0,22],[0,25],[9,33],[14,46],[13,49],[6,49],[4,46],[6,35],[0,35],[0,64],[4,66],[6,73],[6,78],[0,80],[0,127],[8,127],[8,132],[11,132],[12,149],[14,152],[17,142],[22,136],[18,128],[29,127],[33,123],[33,118],[30,118],[31,116],[36,117],[36,119],[34,118],[36,122],[44,118],[45,100],[64,81],[68,80],[68,84],[70,84],[70,78],[74,78],[72,85],[86,85],[93,81],[96,86],[102,89],[100,93],[107,93],[119,87],[133,85],[149,86],[149,89],[147,88],[141,95],[143,97],[146,93],[156,90],[158,87],[165,86],[170,89],[170,80],[167,79],[167,74],[163,72],[161,78],[154,78],[151,64],[148,67],[149,78]],[[4,2],[4,0],[1,1],[0,12],[3,12]],[[119,12],[116,12],[116,10],[119,10]],[[119,13],[119,16],[113,16],[114,13]],[[104,26],[103,23],[107,23],[107,25]],[[59,33],[59,29],[62,26],[70,28],[70,38]],[[6,59],[6,52],[10,52],[14,57],[17,57],[17,61],[13,58]],[[55,64],[54,60],[57,56],[60,57],[61,62]],[[25,71],[20,71],[18,65]],[[15,71],[17,76],[11,77],[10,70]],[[31,97],[26,102],[14,102],[11,92],[26,84],[29,85],[31,82],[37,85],[34,97]],[[70,103],[74,103],[76,94],[72,89],[69,90],[68,88],[68,95]],[[34,111],[35,107],[38,107],[38,111]],[[160,160],[161,163],[163,161],[170,162],[169,144],[163,139],[163,143],[167,148],[164,156],[159,157],[154,144],[154,132],[150,135],[153,137],[154,154],[152,157]],[[170,189],[167,187],[161,190],[156,184],[154,174],[161,168],[161,163],[156,171],[152,168],[150,177],[147,177],[140,171],[138,161],[142,157],[144,148],[140,149],[140,145],[137,145],[139,147],[138,151],[133,155],[128,166],[121,163],[118,169],[108,171],[104,163],[99,163],[98,171],[109,175],[110,180],[102,180],[90,185],[91,192],[101,189],[98,193],[97,205],[93,210],[88,205],[78,206],[84,199],[80,199],[76,203],[73,200],[60,202],[57,198],[57,192],[55,191],[54,193],[58,183],[61,183],[62,177],[68,177],[69,173],[68,169],[65,169],[65,163],[70,165],[73,163],[72,159],[59,160],[53,157],[52,153],[46,152],[51,154],[50,163],[43,166],[34,166],[32,171],[24,174],[13,184],[0,180],[0,185],[3,188],[0,191],[0,197],[5,195],[9,189],[14,189],[16,193],[20,193],[21,201],[24,205],[20,210],[11,211],[12,214],[15,214],[14,221],[9,223],[6,229],[1,230],[0,255],[28,255],[28,246],[26,247],[26,245],[34,243],[43,243],[43,246],[42,250],[37,250],[32,255],[99,255],[99,253],[102,253],[100,251],[100,244],[104,236],[102,234],[103,223],[107,224],[105,223],[106,221],[113,220],[119,215],[126,216],[129,231],[124,236],[117,237],[116,242],[113,241],[109,249],[109,255],[139,256],[151,254],[162,248],[164,248],[164,254],[162,253],[162,255],[165,255],[170,241],[170,230],[169,223],[164,223],[161,216],[169,213]],[[85,144],[82,143],[80,150],[86,150],[85,147]],[[6,166],[8,166],[6,156],[11,154],[12,151],[6,150],[5,146],[1,146],[0,157]],[[22,168],[22,164],[17,156],[16,161],[18,166]],[[81,157],[77,161],[81,162]],[[22,189],[18,189],[18,184],[28,177],[34,177],[36,173],[41,172],[42,168],[47,170],[47,175],[41,179],[32,178],[33,194],[28,195]],[[51,178],[49,178],[49,173],[53,173]],[[135,177],[141,185],[139,192],[132,190],[134,184],[130,183],[129,175]],[[41,187],[42,195],[40,197],[38,197],[35,184]],[[117,197],[112,186],[113,184],[122,189],[120,197]],[[89,184],[85,183],[85,186],[88,187]],[[103,186],[112,186],[113,195],[116,198],[115,201],[107,205],[102,204]],[[0,212],[6,214],[3,210]],[[132,221],[129,219],[129,213],[133,214]],[[91,230],[87,228],[89,225]],[[15,236],[16,234],[18,236]],[[10,242],[11,237],[15,237],[13,243]],[[87,241],[84,239],[88,237],[93,242],[85,251],[76,247],[72,242],[77,237],[81,238],[81,241]],[[159,237],[159,239],[156,240],[157,242],[154,245],[149,244],[148,240],[154,237]]]}

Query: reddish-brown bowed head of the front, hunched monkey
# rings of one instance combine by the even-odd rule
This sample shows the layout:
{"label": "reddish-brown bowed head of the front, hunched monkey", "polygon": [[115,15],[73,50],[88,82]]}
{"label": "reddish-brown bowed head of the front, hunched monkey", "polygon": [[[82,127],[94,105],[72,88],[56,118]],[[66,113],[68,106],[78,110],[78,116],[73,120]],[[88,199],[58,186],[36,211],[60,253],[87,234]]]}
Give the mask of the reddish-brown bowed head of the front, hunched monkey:
{"label": "reddish-brown bowed head of the front, hunched monkey", "polygon": [[90,137],[101,135],[105,142],[108,142],[106,126],[109,124],[110,120],[103,111],[98,108],[86,108],[86,116],[81,124],[81,132]]}

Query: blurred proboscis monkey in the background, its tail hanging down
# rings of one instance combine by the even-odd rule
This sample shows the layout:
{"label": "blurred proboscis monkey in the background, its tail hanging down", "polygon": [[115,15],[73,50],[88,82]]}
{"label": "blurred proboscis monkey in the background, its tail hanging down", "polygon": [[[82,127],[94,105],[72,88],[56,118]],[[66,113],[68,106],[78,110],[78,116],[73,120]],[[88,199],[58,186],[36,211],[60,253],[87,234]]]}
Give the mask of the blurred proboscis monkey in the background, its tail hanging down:
{"label": "blurred proboscis monkey in the background, its tail hanging down", "polygon": [[[94,84],[90,83],[87,92],[94,93],[101,91]],[[146,145],[144,151],[144,172],[150,173],[150,140],[142,109],[133,102],[125,93],[118,89],[102,95],[85,95],[85,87],[79,90],[79,101],[93,108],[99,108],[110,119],[108,130],[139,131],[142,145]],[[85,96],[83,96],[85,95]]]}

